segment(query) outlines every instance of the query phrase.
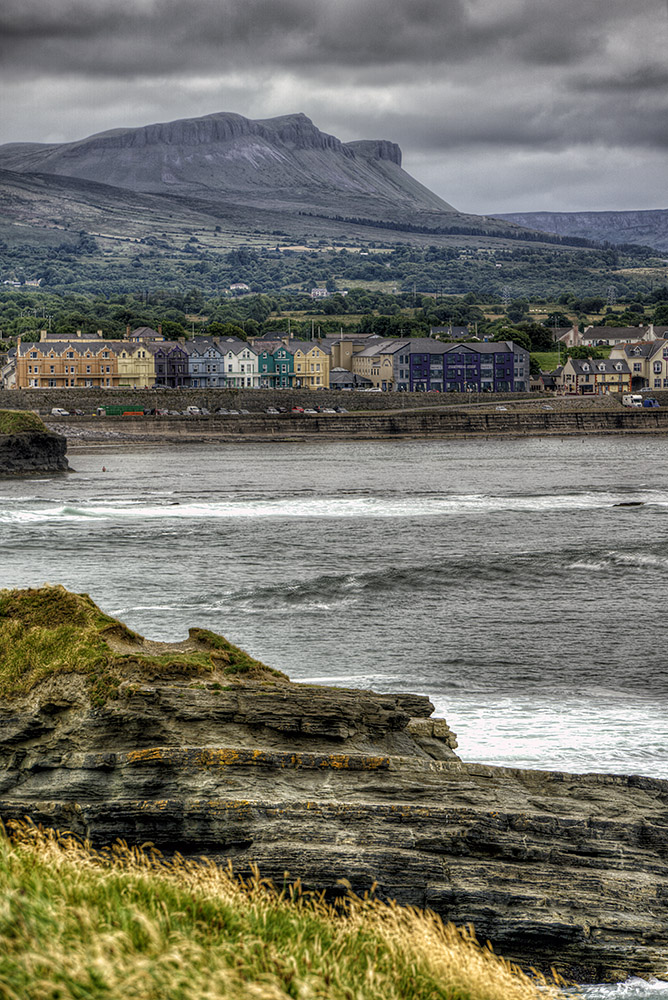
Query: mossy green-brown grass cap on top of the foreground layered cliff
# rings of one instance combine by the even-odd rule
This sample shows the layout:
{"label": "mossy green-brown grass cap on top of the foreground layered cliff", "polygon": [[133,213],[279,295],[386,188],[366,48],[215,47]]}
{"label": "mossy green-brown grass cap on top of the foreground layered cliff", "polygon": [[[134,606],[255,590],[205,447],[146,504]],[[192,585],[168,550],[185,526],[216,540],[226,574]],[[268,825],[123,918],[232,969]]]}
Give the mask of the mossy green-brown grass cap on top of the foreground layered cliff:
{"label": "mossy green-brown grass cap on top of the foreground layered cliff", "polygon": [[191,629],[185,643],[151,643],[64,587],[0,590],[0,697],[50,677],[80,674],[102,704],[123,680],[224,676],[284,678],[223,636]]}

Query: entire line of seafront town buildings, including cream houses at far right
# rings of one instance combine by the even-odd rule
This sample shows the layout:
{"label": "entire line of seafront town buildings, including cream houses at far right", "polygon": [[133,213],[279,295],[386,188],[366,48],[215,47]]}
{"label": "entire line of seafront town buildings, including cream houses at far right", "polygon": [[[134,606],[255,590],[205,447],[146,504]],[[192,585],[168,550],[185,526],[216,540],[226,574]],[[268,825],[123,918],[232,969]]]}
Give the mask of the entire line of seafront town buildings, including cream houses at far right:
{"label": "entire line of seafront town buildings, including cream houses at far right", "polygon": [[[195,336],[169,340],[160,326],[74,336],[42,330],[17,338],[1,370],[3,389],[341,389],[379,392],[628,394],[668,388],[668,327],[577,327],[555,346],[579,348],[551,372],[532,377],[530,352],[513,340],[453,341],[346,334],[311,341],[281,332],[248,340]],[[583,352],[583,348],[585,349]],[[591,348],[590,356],[587,348]],[[602,356],[605,349],[607,357]]]}

